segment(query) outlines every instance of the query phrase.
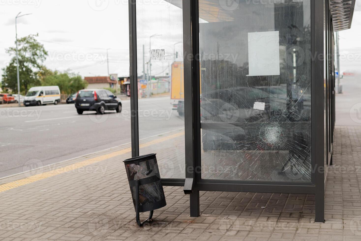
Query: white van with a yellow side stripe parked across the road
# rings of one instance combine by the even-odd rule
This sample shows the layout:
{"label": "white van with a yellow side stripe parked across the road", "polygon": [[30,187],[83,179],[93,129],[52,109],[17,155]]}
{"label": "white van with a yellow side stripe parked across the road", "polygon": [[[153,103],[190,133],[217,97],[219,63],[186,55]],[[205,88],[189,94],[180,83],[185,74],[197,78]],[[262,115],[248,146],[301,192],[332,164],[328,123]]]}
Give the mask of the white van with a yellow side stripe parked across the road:
{"label": "white van with a yellow side stripe parked across the road", "polygon": [[24,97],[24,105],[57,105],[60,102],[59,86],[31,87]]}

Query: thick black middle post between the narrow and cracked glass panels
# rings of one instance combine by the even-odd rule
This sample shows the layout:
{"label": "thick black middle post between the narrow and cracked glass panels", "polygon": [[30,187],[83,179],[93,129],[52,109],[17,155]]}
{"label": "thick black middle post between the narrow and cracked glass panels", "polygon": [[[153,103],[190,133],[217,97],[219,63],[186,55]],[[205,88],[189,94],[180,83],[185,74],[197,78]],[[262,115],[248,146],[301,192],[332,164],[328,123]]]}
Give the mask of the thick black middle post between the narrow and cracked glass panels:
{"label": "thick black middle post between the narrow and cracked glass panels", "polygon": [[184,127],[186,149],[186,183],[184,192],[190,194],[191,216],[199,216],[200,179],[200,91],[197,1],[183,1],[183,51],[184,51]]}

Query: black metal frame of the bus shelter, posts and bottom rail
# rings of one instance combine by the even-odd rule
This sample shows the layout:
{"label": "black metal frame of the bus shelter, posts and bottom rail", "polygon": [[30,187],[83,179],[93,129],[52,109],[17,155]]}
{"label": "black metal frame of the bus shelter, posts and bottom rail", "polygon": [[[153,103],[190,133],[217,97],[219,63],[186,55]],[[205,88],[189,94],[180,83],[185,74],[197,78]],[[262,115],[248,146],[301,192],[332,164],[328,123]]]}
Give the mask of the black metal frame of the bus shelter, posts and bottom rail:
{"label": "black metal frame of the bus shelter, posts and bottom rail", "polygon": [[[129,0],[130,32],[130,87],[131,87],[131,137],[132,156],[139,155],[138,93],[136,62],[135,1]],[[315,194],[315,222],[324,222],[324,190],[327,168],[324,167],[324,2],[311,1],[312,36],[312,181],[309,183],[280,181],[206,180],[200,172],[187,171],[200,167],[200,81],[198,29],[198,1],[183,0],[183,51],[184,51],[184,125],[186,149],[186,179],[162,179],[162,185],[184,186],[190,194],[190,214],[199,216],[199,191],[267,192]],[[329,3],[329,0],[326,0]],[[326,10],[329,11],[329,8]],[[331,22],[332,23],[332,22]],[[326,28],[326,31],[331,31]],[[328,33],[333,34],[332,33]],[[192,167],[192,168],[187,168]]]}

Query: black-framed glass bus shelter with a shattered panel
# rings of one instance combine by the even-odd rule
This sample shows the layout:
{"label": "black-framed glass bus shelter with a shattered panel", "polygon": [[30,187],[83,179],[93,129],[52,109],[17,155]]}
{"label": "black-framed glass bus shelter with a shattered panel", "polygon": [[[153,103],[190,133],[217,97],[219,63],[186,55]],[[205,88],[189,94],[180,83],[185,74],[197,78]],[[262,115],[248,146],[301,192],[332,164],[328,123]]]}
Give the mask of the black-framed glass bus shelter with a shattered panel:
{"label": "black-framed glass bus shelter with a shattered panel", "polygon": [[[191,216],[202,190],[303,193],[324,222],[334,31],[351,27],[354,5],[129,0],[132,156],[157,153],[162,184],[184,187]],[[151,95],[157,76],[169,93]]]}

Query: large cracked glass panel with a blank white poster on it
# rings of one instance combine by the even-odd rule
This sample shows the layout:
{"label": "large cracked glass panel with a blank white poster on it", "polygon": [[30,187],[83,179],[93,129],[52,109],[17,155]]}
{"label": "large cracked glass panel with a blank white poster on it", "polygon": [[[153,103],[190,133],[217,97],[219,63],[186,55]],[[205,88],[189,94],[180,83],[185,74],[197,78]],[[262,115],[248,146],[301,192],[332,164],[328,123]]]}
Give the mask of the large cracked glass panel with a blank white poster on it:
{"label": "large cracked glass panel with a blank white poster on it", "polygon": [[199,3],[204,179],[311,181],[310,0],[261,2]]}

